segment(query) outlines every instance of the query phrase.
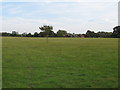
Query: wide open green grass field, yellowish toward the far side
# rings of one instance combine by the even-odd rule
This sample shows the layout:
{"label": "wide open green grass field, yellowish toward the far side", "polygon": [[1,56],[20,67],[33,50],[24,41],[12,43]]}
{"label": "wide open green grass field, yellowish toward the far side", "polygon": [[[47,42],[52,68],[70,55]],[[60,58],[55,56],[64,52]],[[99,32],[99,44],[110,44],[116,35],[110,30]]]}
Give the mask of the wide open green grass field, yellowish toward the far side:
{"label": "wide open green grass field, yellowish toward the far side", "polygon": [[118,39],[2,40],[3,88],[118,87]]}

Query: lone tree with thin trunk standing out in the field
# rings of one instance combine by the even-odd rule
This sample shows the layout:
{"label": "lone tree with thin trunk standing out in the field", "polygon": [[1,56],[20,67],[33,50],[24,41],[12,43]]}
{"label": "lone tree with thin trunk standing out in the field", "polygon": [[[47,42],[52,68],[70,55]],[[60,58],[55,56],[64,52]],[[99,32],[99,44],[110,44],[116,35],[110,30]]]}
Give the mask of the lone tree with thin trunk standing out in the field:
{"label": "lone tree with thin trunk standing out in the field", "polygon": [[48,42],[48,37],[50,35],[50,32],[53,30],[53,27],[49,25],[43,25],[39,27],[39,29],[44,32],[45,36],[47,37],[47,42]]}

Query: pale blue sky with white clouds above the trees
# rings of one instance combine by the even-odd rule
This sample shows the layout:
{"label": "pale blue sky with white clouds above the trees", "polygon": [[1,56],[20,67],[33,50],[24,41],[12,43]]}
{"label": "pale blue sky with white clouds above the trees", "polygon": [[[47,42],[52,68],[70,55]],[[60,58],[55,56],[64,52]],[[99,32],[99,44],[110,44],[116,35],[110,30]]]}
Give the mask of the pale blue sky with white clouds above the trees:
{"label": "pale blue sky with white clouds above the trees", "polygon": [[70,33],[85,33],[87,30],[112,32],[118,24],[117,0],[14,1],[0,2],[0,32],[40,32],[38,27],[44,24],[52,25],[55,32],[59,29]]}

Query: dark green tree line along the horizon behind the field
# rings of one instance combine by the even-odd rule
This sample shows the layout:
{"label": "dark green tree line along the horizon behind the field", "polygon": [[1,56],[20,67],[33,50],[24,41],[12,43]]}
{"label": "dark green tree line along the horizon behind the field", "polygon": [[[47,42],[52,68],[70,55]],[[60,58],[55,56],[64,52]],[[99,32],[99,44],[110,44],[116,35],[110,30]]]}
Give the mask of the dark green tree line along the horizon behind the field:
{"label": "dark green tree line along the horizon behind the field", "polygon": [[13,37],[90,37],[90,38],[120,38],[120,26],[116,26],[113,28],[113,32],[104,32],[99,31],[95,33],[94,31],[87,30],[85,34],[75,34],[75,33],[67,33],[66,30],[58,30],[57,33],[53,31],[53,26],[43,25],[39,27],[41,30],[40,33],[34,32],[32,33],[22,33],[19,34],[16,31],[12,31],[12,33],[2,32],[2,36],[13,36]]}

